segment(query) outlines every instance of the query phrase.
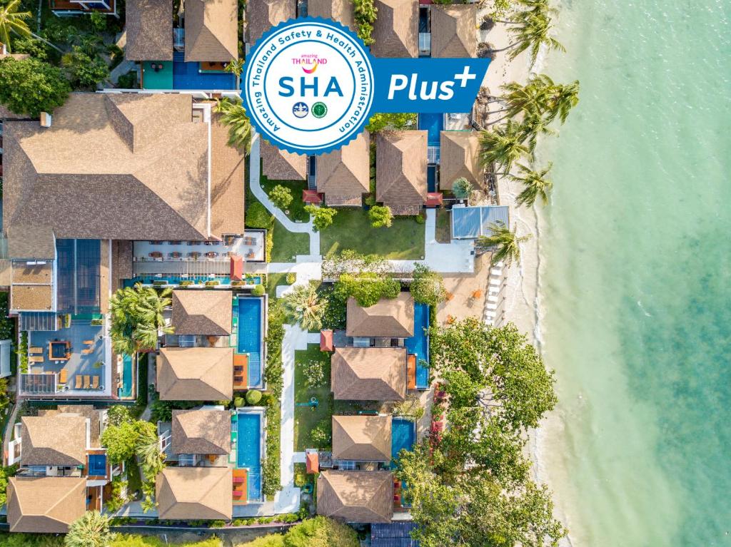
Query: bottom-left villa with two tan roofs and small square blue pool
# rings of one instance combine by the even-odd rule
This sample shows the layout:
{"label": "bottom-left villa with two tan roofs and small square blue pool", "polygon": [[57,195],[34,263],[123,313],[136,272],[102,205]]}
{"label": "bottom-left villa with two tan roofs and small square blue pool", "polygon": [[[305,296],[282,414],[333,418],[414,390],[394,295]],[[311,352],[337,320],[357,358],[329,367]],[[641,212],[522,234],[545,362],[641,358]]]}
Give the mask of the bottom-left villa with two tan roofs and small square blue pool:
{"label": "bottom-left villa with two tan roofs and small square blue pool", "polygon": [[8,464],[18,464],[7,489],[11,532],[66,532],[86,510],[101,510],[105,485],[123,467],[101,448],[105,411],[59,405],[23,416],[10,442]]}

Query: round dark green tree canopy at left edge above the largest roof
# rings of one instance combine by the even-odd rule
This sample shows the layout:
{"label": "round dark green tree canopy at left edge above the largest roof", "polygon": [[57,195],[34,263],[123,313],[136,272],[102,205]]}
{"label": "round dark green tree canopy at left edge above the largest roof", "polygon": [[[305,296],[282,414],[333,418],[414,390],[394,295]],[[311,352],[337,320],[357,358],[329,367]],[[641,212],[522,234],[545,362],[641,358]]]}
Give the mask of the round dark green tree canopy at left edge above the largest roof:
{"label": "round dark green tree canopy at left edge above the largest roof", "polygon": [[71,91],[64,74],[34,58],[0,59],[0,103],[16,114],[37,118],[66,102]]}

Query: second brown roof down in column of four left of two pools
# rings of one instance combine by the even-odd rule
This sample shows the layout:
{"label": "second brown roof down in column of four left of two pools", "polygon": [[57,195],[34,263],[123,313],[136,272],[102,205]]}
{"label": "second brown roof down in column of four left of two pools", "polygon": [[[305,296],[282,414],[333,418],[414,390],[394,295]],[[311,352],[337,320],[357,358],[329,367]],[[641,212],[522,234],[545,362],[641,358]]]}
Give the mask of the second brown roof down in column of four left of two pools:
{"label": "second brown roof down in column of four left of two pools", "polygon": [[162,348],[157,391],[163,401],[231,399],[233,348]]}

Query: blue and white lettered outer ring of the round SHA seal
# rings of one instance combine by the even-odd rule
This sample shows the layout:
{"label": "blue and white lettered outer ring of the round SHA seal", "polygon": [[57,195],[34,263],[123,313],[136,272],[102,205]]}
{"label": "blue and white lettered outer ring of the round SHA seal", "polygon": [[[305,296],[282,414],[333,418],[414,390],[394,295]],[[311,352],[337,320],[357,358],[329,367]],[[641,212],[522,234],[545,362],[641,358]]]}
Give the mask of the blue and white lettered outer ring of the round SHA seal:
{"label": "blue and white lettered outer ring of the round SHA seal", "polygon": [[[360,106],[360,109],[357,110],[357,116],[355,114],[353,115],[353,117],[356,117],[356,120],[350,123],[346,130],[342,132],[342,135],[337,139],[333,139],[330,142],[325,143],[315,142],[312,145],[308,145],[306,144],[306,142],[289,142],[286,139],[283,139],[279,135],[275,134],[274,131],[270,130],[267,126],[267,123],[265,122],[264,115],[276,117],[273,108],[270,107],[270,97],[268,96],[269,93],[273,94],[273,91],[270,89],[265,89],[263,91],[264,100],[257,101],[254,96],[252,96],[254,91],[252,91],[251,89],[253,87],[252,83],[254,82],[252,78],[254,77],[255,73],[257,73],[258,71],[259,74],[262,74],[262,72],[268,71],[267,61],[270,63],[271,61],[273,61],[273,58],[276,58],[275,55],[271,56],[271,59],[263,61],[263,64],[262,62],[258,62],[259,59],[257,58],[257,55],[260,54],[262,47],[268,47],[268,45],[272,43],[271,40],[276,39],[276,37],[280,33],[297,31],[298,28],[303,26],[322,26],[323,30],[327,29],[337,31],[338,34],[343,35],[343,37],[347,39],[348,45],[357,50],[357,53],[359,54],[358,59],[362,59],[363,61],[365,61],[363,65],[366,67],[367,96],[365,102],[357,102],[357,106]],[[303,39],[301,40],[301,42],[306,42],[307,40],[308,39]],[[312,40],[312,42],[315,41]],[[320,43],[321,41],[317,40],[317,42]],[[327,45],[333,47],[333,45],[331,44]],[[353,65],[354,64],[352,63],[350,69],[353,76],[355,77],[356,69]],[[257,40],[253,47],[251,47],[249,55],[246,56],[245,72],[242,78],[243,90],[241,96],[243,99],[243,105],[244,107],[246,107],[246,112],[249,114],[249,121],[251,121],[251,126],[254,127],[254,129],[257,131],[257,133],[260,134],[261,137],[268,140],[272,145],[280,148],[281,150],[287,150],[287,152],[290,153],[319,155],[332,152],[333,150],[338,150],[339,148],[342,148],[353,139],[355,139],[363,131],[366,123],[368,123],[371,107],[374,103],[376,85],[373,67],[374,58],[373,56],[371,56],[369,48],[363,45],[363,41],[359,37],[357,37],[357,34],[355,34],[353,31],[351,31],[349,28],[342,25],[341,23],[338,23],[337,21],[308,17],[305,19],[288,20],[283,23],[279,23],[279,25],[276,25],[270,28],[268,31],[265,31],[265,33],[262,34],[262,37]],[[350,102],[355,102],[355,99],[358,96],[357,89],[358,86],[355,85],[355,88],[353,90],[353,96],[351,98],[352,100],[348,99]],[[363,95],[366,95],[366,93],[363,93]],[[269,111],[268,109],[270,109],[271,111]],[[312,133],[317,132],[317,130],[303,130],[303,132],[308,133],[306,139],[303,138],[303,140],[312,142]]]}

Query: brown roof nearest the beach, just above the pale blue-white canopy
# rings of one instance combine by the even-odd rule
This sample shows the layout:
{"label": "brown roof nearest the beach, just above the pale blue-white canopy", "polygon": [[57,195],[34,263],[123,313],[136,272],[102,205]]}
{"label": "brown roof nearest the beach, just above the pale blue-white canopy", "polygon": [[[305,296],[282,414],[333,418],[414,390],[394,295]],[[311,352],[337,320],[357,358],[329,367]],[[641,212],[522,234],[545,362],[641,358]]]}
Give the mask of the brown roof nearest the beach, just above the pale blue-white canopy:
{"label": "brown roof nearest the beach, just above the pale blue-white canopy", "polygon": [[465,177],[474,186],[482,186],[477,131],[442,131],[439,140],[439,188],[451,190],[454,181],[460,177]]}

